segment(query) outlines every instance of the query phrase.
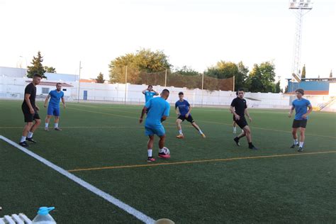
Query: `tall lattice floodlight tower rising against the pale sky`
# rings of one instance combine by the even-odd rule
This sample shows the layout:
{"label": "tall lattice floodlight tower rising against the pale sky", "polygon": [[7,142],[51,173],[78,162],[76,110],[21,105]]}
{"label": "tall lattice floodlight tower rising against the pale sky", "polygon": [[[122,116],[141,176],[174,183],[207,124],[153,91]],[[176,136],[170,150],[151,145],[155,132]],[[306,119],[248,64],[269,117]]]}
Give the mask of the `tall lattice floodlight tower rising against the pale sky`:
{"label": "tall lattice floodlight tower rising against the pale sky", "polygon": [[299,66],[301,58],[302,17],[313,9],[313,3],[310,0],[290,0],[289,9],[291,9],[296,16],[292,75],[296,81],[300,82],[301,74],[299,74]]}

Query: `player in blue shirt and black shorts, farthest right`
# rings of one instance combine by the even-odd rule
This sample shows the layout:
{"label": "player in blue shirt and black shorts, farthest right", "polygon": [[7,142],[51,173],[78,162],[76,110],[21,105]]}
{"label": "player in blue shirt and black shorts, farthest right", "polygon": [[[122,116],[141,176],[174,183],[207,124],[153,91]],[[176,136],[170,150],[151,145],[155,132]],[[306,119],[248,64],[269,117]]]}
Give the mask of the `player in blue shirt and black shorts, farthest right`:
{"label": "player in blue shirt and black shorts, farthest right", "polygon": [[[291,118],[293,111],[295,109],[295,118],[292,125],[292,135],[294,143],[291,148],[298,146],[298,152],[303,151],[303,142],[305,141],[305,131],[308,121],[308,114],[313,111],[313,106],[311,106],[308,99],[303,99],[305,94],[303,89],[296,89],[296,97],[291,106],[291,111],[289,111],[289,118]],[[307,109],[308,108],[308,109]],[[298,142],[298,135],[296,135],[298,128],[300,128],[300,142]]]}

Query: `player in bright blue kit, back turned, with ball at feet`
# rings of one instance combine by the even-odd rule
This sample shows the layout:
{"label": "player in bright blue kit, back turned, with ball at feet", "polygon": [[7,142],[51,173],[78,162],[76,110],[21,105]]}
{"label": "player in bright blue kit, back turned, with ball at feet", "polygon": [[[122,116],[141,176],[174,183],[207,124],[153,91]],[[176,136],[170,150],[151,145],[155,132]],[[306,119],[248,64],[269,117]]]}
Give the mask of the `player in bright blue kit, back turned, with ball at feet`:
{"label": "player in bright blue kit, back turned, with ball at feet", "polygon": [[147,118],[145,121],[145,135],[148,136],[147,142],[147,162],[154,162],[155,158],[152,157],[152,149],[154,145],[154,135],[159,136],[159,157],[168,159],[170,152],[167,147],[164,147],[164,141],[166,139],[166,132],[162,125],[162,122],[169,116],[170,105],[166,101],[169,97],[169,90],[164,89],[161,93],[161,97],[156,97],[147,101],[142,108],[140,123],[142,123],[143,116],[147,111]]}

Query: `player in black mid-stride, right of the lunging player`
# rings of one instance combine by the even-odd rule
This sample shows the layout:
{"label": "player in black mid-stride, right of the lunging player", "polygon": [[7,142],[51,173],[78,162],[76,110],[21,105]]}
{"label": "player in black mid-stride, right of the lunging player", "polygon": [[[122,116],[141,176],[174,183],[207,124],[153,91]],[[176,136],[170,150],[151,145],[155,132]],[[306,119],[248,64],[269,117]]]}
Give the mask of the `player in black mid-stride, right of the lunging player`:
{"label": "player in black mid-stride, right of the lunging player", "polygon": [[233,140],[235,140],[236,144],[240,146],[240,138],[246,136],[247,142],[249,143],[249,148],[251,150],[257,150],[257,147],[254,147],[254,145],[252,144],[251,130],[245,119],[246,114],[247,117],[250,119],[250,122],[252,122],[252,118],[247,111],[246,100],[244,99],[244,89],[238,90],[238,96],[237,98],[233,99],[230,106],[230,111],[235,116],[235,122],[237,123],[237,125],[242,128],[242,130],[244,130],[243,133],[240,133],[240,135],[238,135]]}

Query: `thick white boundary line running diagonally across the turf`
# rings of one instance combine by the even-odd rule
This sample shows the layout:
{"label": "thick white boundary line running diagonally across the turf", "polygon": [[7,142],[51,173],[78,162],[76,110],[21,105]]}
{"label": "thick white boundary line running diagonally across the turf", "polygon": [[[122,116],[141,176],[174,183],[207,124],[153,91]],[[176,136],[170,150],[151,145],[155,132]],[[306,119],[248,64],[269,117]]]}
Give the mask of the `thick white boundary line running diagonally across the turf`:
{"label": "thick white boundary line running diagonally across the turf", "polygon": [[65,177],[71,179],[72,181],[76,182],[80,186],[84,186],[84,188],[88,189],[92,193],[101,196],[101,198],[104,198],[106,201],[113,203],[113,205],[118,206],[123,211],[129,213],[130,215],[134,215],[138,220],[141,220],[144,223],[155,223],[155,220],[150,218],[149,216],[145,215],[144,213],[136,210],[135,208],[128,206],[128,204],[123,203],[122,201],[118,200],[117,198],[111,196],[110,194],[105,193],[104,191],[101,191],[100,189],[96,188],[96,186],[93,186],[92,184],[89,184],[88,182],[80,179],[79,177],[76,177],[74,174],[70,174],[65,169],[62,169],[61,167],[58,167],[57,165],[53,164],[52,162],[49,162],[47,159],[44,159],[43,157],[40,157],[39,155],[35,154],[34,152],[31,152],[30,150],[27,150],[25,147],[22,147],[21,145],[16,144],[16,142],[13,142],[12,140],[9,140],[8,138],[0,135],[0,139],[4,140],[5,142],[8,142],[10,145],[13,145],[14,147],[18,148],[19,150],[25,152],[26,154],[30,155],[31,157],[38,159],[38,161],[42,162],[43,164],[47,165],[48,167],[54,169],[55,171],[59,172],[60,174],[64,175]]}

